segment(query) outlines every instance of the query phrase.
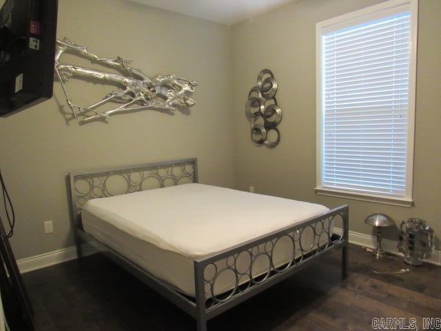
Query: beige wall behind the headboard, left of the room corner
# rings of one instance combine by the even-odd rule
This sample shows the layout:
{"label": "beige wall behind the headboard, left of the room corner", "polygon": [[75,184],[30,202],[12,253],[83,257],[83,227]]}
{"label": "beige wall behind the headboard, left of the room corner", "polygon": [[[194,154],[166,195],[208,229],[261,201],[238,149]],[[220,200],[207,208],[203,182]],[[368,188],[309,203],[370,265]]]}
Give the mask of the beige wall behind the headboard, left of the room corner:
{"label": "beige wall behind the headboard, left of the room corner", "polygon": [[[0,118],[0,165],[17,212],[17,258],[72,245],[65,175],[71,170],[198,157],[202,183],[234,187],[229,30],[119,0],[60,0],[58,37],[107,57],[132,59],[146,74],[194,79],[190,114],[144,110],[109,123],[66,121],[64,97]],[[71,59],[66,57],[66,59]],[[82,104],[109,88],[72,81]],[[54,233],[43,234],[43,221]]]}

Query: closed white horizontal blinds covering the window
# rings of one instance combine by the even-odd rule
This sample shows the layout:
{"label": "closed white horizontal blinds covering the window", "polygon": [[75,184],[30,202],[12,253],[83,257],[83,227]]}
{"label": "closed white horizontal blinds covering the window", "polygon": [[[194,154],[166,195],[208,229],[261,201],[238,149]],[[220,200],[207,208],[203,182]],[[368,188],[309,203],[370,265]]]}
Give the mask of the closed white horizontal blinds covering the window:
{"label": "closed white horizontal blinds covering the window", "polygon": [[409,12],[322,34],[322,188],[405,196],[409,44]]}

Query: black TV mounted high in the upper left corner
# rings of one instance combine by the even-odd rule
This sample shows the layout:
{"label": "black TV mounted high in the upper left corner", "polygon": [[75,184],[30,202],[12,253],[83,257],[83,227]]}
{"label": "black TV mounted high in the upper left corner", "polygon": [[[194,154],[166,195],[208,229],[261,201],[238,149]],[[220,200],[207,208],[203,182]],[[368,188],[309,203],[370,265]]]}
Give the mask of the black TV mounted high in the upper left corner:
{"label": "black TV mounted high in the upper left corner", "polygon": [[0,115],[52,97],[58,0],[6,0],[0,10]]}

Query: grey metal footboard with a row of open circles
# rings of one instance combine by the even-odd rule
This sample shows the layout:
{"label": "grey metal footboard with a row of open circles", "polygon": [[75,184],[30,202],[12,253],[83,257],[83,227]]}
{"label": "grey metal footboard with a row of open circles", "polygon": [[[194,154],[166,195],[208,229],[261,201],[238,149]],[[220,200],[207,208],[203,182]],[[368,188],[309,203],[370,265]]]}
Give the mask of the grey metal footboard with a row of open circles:
{"label": "grey metal footboard with a row of open circles", "polygon": [[[332,233],[332,225],[337,221],[342,224],[341,235]],[[206,323],[212,317],[302,270],[333,248],[342,248],[342,276],[347,277],[348,229],[349,207],[342,205],[318,217],[194,261],[198,331],[207,330]],[[303,237],[308,231],[313,240],[311,245],[304,247]],[[292,259],[276,265],[276,250],[282,240],[291,243]],[[239,266],[239,259],[247,260],[245,268],[243,261]],[[259,259],[266,260],[268,268],[264,274],[255,277],[254,264]],[[227,293],[216,294],[216,281],[227,273],[235,279],[234,288]]]}

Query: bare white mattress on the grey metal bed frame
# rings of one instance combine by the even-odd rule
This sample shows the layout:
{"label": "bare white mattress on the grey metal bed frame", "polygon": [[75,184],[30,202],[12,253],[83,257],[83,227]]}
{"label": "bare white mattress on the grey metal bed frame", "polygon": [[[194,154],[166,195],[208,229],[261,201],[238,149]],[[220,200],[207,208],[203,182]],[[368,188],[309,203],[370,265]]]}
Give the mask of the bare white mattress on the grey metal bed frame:
{"label": "bare white mattress on the grey metal bed frame", "polygon": [[[85,232],[194,297],[195,259],[327,210],[314,203],[192,183],[92,199],[81,218]],[[278,255],[278,265],[290,261],[289,243],[286,254]],[[265,272],[265,264],[256,263],[253,275]],[[234,279],[220,277],[215,294],[231,288]]]}

